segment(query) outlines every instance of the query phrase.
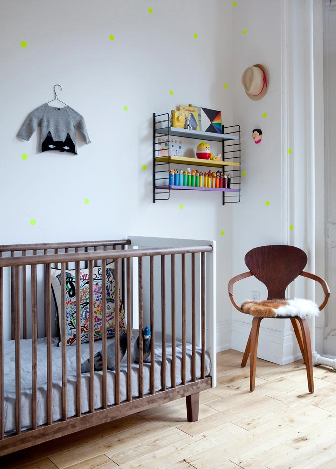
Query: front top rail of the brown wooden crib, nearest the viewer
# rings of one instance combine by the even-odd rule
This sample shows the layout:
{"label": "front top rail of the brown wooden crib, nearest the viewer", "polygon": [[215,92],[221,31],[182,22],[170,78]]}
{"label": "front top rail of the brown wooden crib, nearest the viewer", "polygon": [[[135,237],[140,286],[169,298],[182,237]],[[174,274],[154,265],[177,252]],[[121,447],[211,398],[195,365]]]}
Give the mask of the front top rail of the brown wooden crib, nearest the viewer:
{"label": "front top rail of the brown wooden crib, nearest the viewer", "polygon": [[37,264],[58,264],[61,262],[95,261],[102,259],[122,259],[129,257],[164,256],[169,254],[190,254],[212,252],[211,245],[181,246],[165,248],[122,249],[113,251],[74,252],[64,254],[37,254],[34,256],[17,256],[0,258],[1,267],[28,266]]}

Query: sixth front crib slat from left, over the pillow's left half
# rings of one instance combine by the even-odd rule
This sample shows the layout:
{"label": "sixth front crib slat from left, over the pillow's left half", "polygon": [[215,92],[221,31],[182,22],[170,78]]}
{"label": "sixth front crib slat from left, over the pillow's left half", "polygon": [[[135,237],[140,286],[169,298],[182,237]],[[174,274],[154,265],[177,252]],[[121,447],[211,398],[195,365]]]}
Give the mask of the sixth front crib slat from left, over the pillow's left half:
{"label": "sixth front crib slat from left, over the pillow's left half", "polygon": [[80,262],[75,263],[76,281],[76,415],[82,414],[82,375],[81,375],[81,279]]}

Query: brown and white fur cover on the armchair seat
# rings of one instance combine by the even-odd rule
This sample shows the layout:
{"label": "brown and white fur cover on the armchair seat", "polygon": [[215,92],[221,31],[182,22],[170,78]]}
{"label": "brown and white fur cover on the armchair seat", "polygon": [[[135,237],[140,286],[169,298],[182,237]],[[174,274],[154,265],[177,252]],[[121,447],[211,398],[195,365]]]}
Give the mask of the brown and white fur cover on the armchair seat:
{"label": "brown and white fur cover on the armchair seat", "polygon": [[320,312],[316,303],[303,298],[290,300],[246,300],[241,305],[244,313],[260,318],[279,318],[281,316],[296,316],[307,318],[317,316]]}

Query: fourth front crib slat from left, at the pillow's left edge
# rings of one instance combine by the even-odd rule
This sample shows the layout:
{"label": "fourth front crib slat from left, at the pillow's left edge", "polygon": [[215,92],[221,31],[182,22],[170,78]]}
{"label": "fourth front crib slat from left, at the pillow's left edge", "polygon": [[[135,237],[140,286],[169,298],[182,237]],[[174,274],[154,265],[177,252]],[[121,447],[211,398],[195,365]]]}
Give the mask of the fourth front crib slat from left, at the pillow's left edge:
{"label": "fourth front crib slat from left, at the pillow's left edge", "polygon": [[51,331],[51,265],[46,265],[46,358],[47,358],[47,421],[52,423],[52,331]]}

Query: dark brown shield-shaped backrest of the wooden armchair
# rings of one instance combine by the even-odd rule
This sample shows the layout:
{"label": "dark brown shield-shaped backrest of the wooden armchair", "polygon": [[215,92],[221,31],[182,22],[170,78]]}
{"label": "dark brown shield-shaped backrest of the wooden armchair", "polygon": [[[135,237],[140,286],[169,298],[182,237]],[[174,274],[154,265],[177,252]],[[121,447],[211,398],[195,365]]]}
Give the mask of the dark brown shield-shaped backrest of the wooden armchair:
{"label": "dark brown shield-shaped backrest of the wooden armchair", "polygon": [[289,283],[307,264],[307,255],[294,246],[260,246],[245,255],[245,264],[267,287],[268,298],[284,299]]}

